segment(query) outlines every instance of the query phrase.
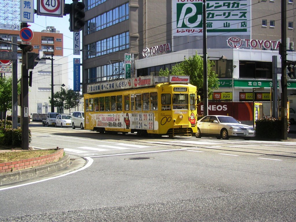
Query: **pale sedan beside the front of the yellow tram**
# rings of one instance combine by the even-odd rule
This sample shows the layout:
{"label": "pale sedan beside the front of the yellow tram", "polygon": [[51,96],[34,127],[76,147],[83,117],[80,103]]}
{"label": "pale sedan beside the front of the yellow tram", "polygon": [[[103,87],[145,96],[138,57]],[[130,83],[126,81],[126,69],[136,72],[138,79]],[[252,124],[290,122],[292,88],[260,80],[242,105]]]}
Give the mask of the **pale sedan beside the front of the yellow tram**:
{"label": "pale sedan beside the front of the yellow tram", "polygon": [[231,116],[208,115],[197,121],[197,133],[195,133],[197,138],[205,135],[216,136],[218,139],[236,136],[248,140],[255,135],[255,130]]}

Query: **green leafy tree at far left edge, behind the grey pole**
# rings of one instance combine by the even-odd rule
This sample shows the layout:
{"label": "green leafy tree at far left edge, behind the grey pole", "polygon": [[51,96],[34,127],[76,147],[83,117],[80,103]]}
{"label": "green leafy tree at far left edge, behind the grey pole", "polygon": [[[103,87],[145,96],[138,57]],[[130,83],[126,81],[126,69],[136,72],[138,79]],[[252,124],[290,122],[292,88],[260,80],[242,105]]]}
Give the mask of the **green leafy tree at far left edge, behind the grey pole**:
{"label": "green leafy tree at far left edge, behind the grey pole", "polygon": [[[4,128],[6,128],[6,112],[12,110],[12,78],[0,78],[0,112],[4,112]],[[20,93],[20,83],[17,85]]]}

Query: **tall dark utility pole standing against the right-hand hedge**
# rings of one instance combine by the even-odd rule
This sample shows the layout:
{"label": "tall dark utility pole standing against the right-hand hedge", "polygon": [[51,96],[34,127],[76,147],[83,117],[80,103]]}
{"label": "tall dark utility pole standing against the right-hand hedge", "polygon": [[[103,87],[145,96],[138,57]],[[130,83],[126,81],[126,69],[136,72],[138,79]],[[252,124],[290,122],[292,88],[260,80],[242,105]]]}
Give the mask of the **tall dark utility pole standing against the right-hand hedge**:
{"label": "tall dark utility pole standing against the right-hand hedge", "polygon": [[281,0],[281,139],[287,140],[287,4]]}

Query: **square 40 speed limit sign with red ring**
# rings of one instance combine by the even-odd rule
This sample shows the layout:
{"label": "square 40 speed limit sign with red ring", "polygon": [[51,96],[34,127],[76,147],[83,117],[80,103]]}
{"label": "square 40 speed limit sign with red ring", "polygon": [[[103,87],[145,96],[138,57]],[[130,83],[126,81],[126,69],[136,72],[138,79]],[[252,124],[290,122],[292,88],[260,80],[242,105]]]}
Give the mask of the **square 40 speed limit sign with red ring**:
{"label": "square 40 speed limit sign with red ring", "polygon": [[37,0],[37,15],[63,17],[63,0]]}

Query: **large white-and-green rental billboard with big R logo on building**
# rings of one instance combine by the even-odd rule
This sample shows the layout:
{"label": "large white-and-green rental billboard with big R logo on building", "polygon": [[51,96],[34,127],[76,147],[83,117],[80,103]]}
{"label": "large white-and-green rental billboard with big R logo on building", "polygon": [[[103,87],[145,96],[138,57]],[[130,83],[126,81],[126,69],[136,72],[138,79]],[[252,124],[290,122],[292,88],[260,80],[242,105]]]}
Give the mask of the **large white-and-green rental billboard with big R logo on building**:
{"label": "large white-and-green rental billboard with big R logo on building", "polygon": [[[172,0],[173,36],[202,36],[203,0]],[[207,35],[250,35],[251,0],[206,1]]]}

